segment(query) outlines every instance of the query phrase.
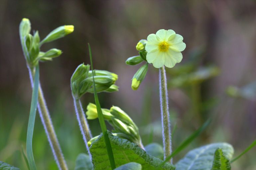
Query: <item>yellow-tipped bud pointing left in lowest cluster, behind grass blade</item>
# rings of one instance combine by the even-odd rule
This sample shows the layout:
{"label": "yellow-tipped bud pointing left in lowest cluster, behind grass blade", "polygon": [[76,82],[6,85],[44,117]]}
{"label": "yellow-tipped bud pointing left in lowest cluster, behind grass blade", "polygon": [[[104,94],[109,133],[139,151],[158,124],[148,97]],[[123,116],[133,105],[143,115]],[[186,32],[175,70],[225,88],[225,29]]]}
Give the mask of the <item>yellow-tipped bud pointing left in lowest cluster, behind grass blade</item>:
{"label": "yellow-tipped bud pointing left in lowest cluster, behind grass blade", "polygon": [[[87,115],[87,119],[92,120],[98,118],[97,107],[95,104],[89,103],[86,109],[87,111],[85,114]],[[110,114],[109,109],[101,109],[101,111],[105,120],[111,120],[113,116]]]}

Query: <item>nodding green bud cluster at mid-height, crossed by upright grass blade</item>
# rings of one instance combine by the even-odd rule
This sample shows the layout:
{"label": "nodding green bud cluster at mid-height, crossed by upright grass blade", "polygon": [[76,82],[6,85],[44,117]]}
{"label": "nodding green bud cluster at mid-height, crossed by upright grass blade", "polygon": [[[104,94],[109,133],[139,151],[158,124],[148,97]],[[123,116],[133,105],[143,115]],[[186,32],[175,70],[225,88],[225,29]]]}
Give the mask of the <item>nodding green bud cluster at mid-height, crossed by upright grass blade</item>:
{"label": "nodding green bud cluster at mid-height, crossed by upright grass blade", "polygon": [[[105,70],[94,70],[94,72],[97,92],[118,91],[118,86],[115,85],[118,79],[116,74]],[[76,99],[79,99],[86,92],[93,93],[93,78],[90,65],[80,64],[74,71],[70,83],[72,94]]]}

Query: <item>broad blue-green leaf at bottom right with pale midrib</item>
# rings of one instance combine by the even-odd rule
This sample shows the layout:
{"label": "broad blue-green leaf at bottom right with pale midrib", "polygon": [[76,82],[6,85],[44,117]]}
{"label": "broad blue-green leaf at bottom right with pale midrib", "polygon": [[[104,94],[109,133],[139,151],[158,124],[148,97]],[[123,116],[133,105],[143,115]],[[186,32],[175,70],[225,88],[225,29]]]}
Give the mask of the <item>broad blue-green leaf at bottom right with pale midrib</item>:
{"label": "broad blue-green leaf at bottom right with pale midrib", "polygon": [[227,159],[231,159],[234,149],[228,143],[212,143],[189,151],[183,159],[176,164],[176,170],[210,170],[214,152],[221,148]]}

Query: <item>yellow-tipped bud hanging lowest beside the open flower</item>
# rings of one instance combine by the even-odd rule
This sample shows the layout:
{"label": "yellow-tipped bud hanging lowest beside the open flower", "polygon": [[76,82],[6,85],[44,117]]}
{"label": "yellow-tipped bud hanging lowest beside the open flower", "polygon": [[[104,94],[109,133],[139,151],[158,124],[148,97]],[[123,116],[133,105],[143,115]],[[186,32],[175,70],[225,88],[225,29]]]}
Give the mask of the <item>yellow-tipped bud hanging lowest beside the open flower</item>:
{"label": "yellow-tipped bud hanging lowest beside the open flower", "polygon": [[148,72],[148,63],[144,64],[132,78],[132,89],[137,90]]}

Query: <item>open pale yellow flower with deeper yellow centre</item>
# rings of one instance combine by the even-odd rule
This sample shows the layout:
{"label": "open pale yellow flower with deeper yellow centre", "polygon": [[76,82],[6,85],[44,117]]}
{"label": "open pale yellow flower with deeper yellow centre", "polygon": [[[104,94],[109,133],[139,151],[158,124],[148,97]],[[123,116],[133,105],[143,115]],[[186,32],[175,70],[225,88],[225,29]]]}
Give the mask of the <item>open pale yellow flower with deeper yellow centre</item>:
{"label": "open pale yellow flower with deeper yellow centre", "polygon": [[183,37],[174,30],[160,29],[156,34],[150,34],[146,44],[147,61],[160,68],[166,66],[172,68],[182,60],[182,53],[186,48]]}

